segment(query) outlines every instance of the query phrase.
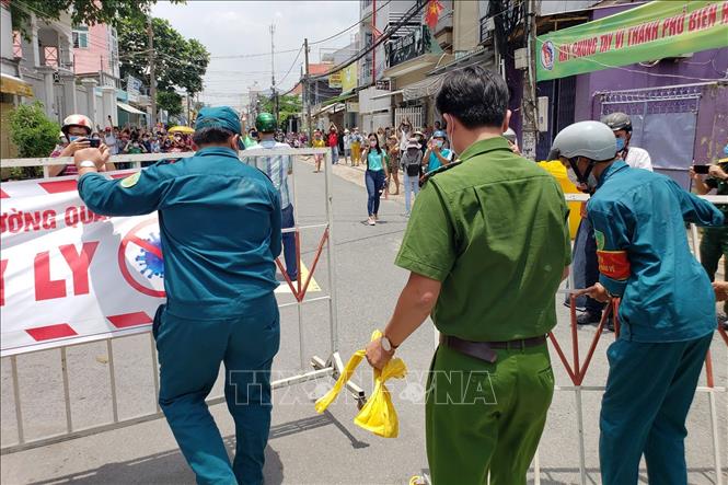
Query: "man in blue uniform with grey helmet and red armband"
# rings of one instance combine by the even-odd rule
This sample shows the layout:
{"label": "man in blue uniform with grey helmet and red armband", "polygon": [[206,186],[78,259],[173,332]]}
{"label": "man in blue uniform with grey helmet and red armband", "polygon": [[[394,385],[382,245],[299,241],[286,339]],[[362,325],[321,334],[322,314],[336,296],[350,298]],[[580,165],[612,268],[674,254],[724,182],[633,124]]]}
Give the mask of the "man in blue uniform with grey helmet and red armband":
{"label": "man in blue uniform with grey helmet and red armband", "polygon": [[581,293],[621,298],[620,338],[610,346],[600,417],[604,485],[687,483],[685,417],[716,327],[710,281],[690,251],[684,222],[720,226],[712,204],[665,175],[615,159],[612,130],[581,122],[554,139],[550,160],[593,194],[600,279]]}

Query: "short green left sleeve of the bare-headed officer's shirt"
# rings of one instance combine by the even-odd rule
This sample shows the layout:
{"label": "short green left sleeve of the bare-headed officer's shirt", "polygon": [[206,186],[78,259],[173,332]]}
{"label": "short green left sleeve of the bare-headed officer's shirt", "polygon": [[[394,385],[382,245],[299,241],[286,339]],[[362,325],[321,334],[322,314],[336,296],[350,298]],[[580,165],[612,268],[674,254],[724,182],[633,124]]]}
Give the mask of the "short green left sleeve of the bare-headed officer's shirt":
{"label": "short green left sleeve of the bare-headed officer's shirt", "polygon": [[440,189],[429,181],[417,195],[394,262],[397,266],[444,281],[455,263],[455,232]]}

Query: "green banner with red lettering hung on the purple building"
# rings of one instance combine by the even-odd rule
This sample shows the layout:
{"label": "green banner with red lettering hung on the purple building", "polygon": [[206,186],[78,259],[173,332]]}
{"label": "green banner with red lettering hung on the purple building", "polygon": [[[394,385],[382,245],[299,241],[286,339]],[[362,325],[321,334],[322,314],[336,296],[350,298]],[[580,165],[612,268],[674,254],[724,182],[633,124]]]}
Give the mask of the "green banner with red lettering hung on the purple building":
{"label": "green banner with red lettering hung on the purple building", "polygon": [[728,0],[660,0],[536,38],[536,79],[728,47]]}

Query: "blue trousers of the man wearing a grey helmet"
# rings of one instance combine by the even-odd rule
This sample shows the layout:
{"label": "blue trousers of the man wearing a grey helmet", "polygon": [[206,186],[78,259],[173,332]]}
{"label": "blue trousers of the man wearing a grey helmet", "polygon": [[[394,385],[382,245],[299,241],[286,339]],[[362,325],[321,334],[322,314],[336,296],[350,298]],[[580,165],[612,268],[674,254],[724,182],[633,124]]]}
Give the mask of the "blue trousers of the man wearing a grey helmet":
{"label": "blue trousers of the man wearing a grey helmet", "polygon": [[685,417],[713,334],[686,342],[620,338],[606,353],[599,459],[604,485],[637,484],[645,454],[650,485],[687,483]]}

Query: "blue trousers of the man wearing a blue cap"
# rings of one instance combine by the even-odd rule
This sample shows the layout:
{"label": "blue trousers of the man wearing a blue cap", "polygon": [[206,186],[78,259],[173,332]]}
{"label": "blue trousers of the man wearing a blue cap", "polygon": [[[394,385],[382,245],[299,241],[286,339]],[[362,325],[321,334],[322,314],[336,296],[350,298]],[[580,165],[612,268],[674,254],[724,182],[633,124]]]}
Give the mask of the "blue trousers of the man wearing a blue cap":
{"label": "blue trousers of the man wearing a blue cap", "polygon": [[[159,403],[198,484],[262,484],[270,428],[270,367],[280,343],[273,295],[245,315],[182,319],[160,307],[154,336],[160,363]],[[235,422],[230,464],[205,399],[226,366],[226,401]]]}

